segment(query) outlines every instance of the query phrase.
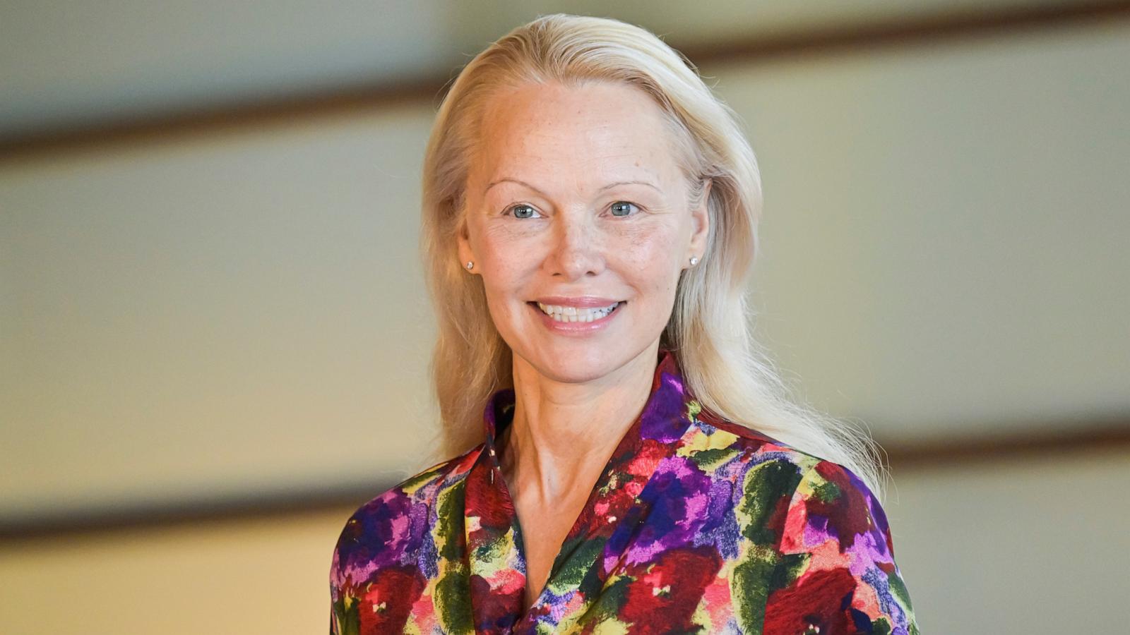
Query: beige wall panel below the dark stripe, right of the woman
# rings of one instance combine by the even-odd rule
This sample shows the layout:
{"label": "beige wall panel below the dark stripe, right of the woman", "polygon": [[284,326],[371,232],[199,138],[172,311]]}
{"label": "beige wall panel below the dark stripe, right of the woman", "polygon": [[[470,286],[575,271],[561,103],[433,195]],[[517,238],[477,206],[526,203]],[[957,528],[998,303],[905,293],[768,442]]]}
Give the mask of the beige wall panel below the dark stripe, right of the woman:
{"label": "beige wall panel below the dark stripe, right of the woman", "polygon": [[1120,632],[1130,451],[895,475],[885,504],[923,633]]}

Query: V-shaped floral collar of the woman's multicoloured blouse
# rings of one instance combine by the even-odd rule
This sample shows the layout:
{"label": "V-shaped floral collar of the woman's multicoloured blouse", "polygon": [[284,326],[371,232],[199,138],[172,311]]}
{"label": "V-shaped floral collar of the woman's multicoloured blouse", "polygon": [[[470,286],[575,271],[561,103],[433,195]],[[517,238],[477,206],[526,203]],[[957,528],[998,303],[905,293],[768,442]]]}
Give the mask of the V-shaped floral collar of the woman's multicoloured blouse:
{"label": "V-shaped floral collar of the woman's multicoloured blouse", "polygon": [[466,571],[471,579],[468,592],[476,629],[553,630],[560,607],[580,592],[571,584],[563,584],[562,575],[583,579],[586,585],[599,588],[623,556],[634,528],[649,513],[657,492],[653,487],[649,494],[646,488],[652,475],[678,451],[698,411],[698,403],[684,385],[675,354],[662,350],[643,410],[590,490],[554,560],[546,586],[529,611],[523,612],[522,531],[496,450],[496,434],[513,418],[514,391],[496,392],[485,408],[486,442],[471,467],[466,489]]}

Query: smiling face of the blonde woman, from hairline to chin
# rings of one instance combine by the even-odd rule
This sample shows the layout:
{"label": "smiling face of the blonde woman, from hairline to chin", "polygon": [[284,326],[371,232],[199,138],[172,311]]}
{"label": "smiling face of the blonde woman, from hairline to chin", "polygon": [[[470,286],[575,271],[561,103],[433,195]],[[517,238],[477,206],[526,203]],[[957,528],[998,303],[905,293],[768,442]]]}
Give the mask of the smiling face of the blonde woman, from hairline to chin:
{"label": "smiling face of the blonde woman, from hairline to chin", "polygon": [[670,134],[626,85],[529,84],[488,102],[459,255],[515,368],[588,382],[658,347],[709,223]]}

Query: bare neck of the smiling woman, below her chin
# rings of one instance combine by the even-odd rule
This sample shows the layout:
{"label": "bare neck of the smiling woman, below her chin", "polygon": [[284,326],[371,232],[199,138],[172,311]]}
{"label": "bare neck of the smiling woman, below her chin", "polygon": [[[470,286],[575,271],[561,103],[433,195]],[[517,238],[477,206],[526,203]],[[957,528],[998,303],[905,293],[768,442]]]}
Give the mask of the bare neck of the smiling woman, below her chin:
{"label": "bare neck of the smiling woman, below her chin", "polygon": [[594,481],[647,402],[658,354],[657,341],[582,383],[548,379],[515,356],[514,418],[498,440],[507,482],[551,502]]}

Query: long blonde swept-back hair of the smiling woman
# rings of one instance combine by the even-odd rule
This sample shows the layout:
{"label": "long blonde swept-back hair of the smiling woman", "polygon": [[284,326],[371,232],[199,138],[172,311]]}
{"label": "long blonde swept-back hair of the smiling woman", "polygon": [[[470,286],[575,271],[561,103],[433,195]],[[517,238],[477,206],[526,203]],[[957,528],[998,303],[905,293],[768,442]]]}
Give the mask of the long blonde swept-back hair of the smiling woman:
{"label": "long blonde swept-back hair of the smiling woman", "polygon": [[709,179],[706,251],[684,271],[661,346],[676,350],[690,392],[724,419],[855,472],[881,493],[873,442],[858,428],[796,402],[753,339],[746,292],[757,253],[760,174],[736,113],[697,69],[641,27],[555,14],[520,26],[476,55],[440,105],[424,158],[421,250],[436,307],[432,373],[443,452],[483,441],[483,409],[512,385],[511,350],[495,329],[478,276],[455,252],[464,190],[485,103],[528,82],[623,82],[650,95],[667,116],[697,200]]}

